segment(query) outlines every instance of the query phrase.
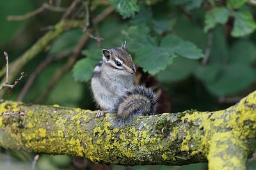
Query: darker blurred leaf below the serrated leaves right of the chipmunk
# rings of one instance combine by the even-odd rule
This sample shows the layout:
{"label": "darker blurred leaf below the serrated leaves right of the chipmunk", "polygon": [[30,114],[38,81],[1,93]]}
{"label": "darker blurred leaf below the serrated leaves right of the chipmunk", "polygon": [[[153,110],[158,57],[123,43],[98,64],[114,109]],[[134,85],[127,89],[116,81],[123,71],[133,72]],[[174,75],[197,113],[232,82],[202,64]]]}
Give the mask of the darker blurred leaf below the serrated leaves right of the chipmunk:
{"label": "darker blurred leaf below the serrated leaves right of the chipmunk", "polygon": [[157,79],[161,82],[180,81],[188,78],[199,66],[198,61],[183,57],[175,57],[173,63],[163,71],[157,73]]}

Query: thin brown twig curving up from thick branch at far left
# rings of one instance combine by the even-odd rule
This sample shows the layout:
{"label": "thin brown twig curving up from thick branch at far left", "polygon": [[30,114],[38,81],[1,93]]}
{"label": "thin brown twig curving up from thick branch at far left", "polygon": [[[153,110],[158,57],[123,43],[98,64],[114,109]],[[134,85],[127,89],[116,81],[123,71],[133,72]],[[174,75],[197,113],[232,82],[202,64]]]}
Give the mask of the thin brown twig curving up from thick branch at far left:
{"label": "thin brown twig curving up from thick branch at far left", "polygon": [[24,99],[29,88],[35,81],[36,76],[38,76],[38,74],[41,73],[42,70],[45,69],[45,67],[47,67],[51,62],[63,59],[64,57],[67,57],[68,55],[70,55],[70,52],[64,52],[64,53],[60,53],[59,55],[56,55],[55,57],[50,56],[50,57],[47,57],[45,60],[43,60],[43,62],[41,62],[38,67],[36,67],[35,71],[32,74],[30,74],[29,79],[28,79],[28,81],[26,81],[26,84],[22,88],[17,101],[22,101]]}

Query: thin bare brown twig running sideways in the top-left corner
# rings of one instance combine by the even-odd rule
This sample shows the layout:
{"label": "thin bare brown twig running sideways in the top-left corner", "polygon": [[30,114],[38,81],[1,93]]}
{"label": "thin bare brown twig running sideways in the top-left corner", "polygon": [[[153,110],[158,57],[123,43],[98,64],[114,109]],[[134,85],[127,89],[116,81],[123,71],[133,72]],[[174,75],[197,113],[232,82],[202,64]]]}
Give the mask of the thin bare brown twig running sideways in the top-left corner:
{"label": "thin bare brown twig running sideways in the top-left corner", "polygon": [[40,6],[40,8],[36,9],[35,11],[26,13],[25,15],[17,15],[17,16],[10,15],[7,17],[7,20],[26,20],[28,18],[35,17],[39,13],[42,13],[44,10],[63,12],[63,11],[66,11],[67,9],[68,8],[61,8],[59,6],[52,6],[50,4],[43,3],[42,6]]}

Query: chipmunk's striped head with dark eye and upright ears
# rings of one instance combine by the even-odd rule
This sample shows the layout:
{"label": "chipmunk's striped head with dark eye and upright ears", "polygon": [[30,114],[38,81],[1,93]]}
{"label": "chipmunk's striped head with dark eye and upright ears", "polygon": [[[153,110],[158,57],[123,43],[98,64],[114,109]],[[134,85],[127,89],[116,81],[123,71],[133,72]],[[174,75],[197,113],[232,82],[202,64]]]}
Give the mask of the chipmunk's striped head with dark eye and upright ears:
{"label": "chipmunk's striped head with dark eye and upright ears", "polygon": [[121,47],[103,49],[103,62],[113,68],[116,74],[134,74],[136,69],[131,55],[126,51],[126,41]]}

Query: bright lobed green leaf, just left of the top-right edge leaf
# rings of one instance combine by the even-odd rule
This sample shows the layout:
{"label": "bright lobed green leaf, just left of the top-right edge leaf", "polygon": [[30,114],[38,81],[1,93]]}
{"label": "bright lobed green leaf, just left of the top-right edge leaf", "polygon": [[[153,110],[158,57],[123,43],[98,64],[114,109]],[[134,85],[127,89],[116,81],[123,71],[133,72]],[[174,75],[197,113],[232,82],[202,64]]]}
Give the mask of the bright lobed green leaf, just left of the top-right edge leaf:
{"label": "bright lobed green leaf, just left of the top-right edge leaf", "polygon": [[216,24],[225,24],[228,21],[230,11],[225,7],[215,7],[205,15],[204,31],[215,27]]}

